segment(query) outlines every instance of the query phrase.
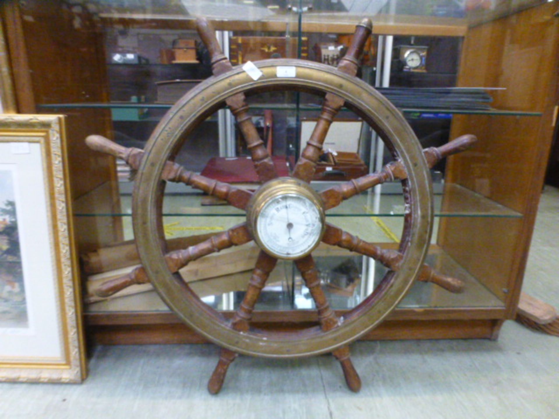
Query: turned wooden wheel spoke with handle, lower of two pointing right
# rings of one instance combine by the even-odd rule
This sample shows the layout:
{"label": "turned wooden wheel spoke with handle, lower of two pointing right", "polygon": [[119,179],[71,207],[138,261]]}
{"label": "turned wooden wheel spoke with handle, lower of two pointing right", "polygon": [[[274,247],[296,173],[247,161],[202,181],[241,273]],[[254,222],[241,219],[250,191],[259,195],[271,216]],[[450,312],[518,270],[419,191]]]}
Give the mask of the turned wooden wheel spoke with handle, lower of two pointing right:
{"label": "turned wooden wheel spoke with handle, lower of two pointing right", "polygon": [[[397,250],[383,249],[382,247],[361,240],[359,237],[353,236],[331,224],[326,224],[326,231],[324,232],[322,241],[326,244],[342,247],[343,249],[375,259],[394,272],[400,269],[400,263],[404,258],[404,255]],[[421,266],[417,280],[421,282],[432,282],[452,293],[461,293],[464,291],[464,283],[462,280],[439,274],[426,264]]]}

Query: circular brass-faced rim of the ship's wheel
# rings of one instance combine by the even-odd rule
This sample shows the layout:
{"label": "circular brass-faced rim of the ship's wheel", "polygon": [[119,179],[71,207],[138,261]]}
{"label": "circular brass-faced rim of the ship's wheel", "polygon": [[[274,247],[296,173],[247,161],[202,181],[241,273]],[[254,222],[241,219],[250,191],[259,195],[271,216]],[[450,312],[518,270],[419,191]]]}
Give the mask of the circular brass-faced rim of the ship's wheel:
{"label": "circular brass-faced rim of the ship's wheel", "polygon": [[[240,66],[211,77],[181,98],[151,135],[135,182],[132,215],[136,243],[144,268],[165,303],[185,322],[215,344],[235,353],[273,358],[294,358],[332,352],[358,339],[378,325],[399,303],[418,277],[427,254],[433,194],[430,174],[419,141],[405,118],[368,84],[338,70],[302,60],[266,60],[254,63],[263,73],[253,80]],[[278,78],[277,66],[293,66],[296,77]],[[161,175],[165,162],[201,121],[224,106],[235,93],[290,89],[342,97],[348,108],[375,129],[392,154],[404,164],[408,179],[402,181],[405,215],[400,269],[386,274],[375,291],[340,318],[329,331],[319,326],[281,334],[263,330],[239,332],[221,313],[213,310],[167,267],[162,246]]]}

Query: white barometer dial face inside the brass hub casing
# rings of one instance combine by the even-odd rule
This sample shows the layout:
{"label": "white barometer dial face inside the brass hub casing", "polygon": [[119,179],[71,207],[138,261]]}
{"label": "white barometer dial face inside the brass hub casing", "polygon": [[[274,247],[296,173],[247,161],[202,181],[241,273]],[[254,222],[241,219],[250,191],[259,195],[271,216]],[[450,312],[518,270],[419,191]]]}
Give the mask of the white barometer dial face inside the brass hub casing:
{"label": "white barometer dial face inside the brass hub casing", "polygon": [[264,204],[256,220],[260,244],[279,258],[296,259],[318,244],[323,229],[319,209],[304,196],[287,193]]}

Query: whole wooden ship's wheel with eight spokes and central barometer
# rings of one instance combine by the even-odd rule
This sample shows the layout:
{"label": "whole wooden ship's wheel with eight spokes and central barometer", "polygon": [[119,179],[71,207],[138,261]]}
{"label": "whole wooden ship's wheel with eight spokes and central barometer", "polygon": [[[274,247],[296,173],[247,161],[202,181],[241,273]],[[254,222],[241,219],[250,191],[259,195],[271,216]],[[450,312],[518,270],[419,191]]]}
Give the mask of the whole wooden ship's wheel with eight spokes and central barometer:
{"label": "whole wooden ship's wheel with eight spokes and central barometer", "polygon": [[[241,66],[233,68],[222,54],[214,31],[204,19],[198,32],[212,57],[214,76],[182,97],[159,123],[145,150],[125,149],[100,136],[88,145],[119,156],[134,169],[133,223],[143,266],[107,284],[110,294],[134,283],[151,282],[163,300],[185,322],[221,346],[219,362],[211,376],[211,393],[220,391],[230,363],[237,354],[271,358],[332,353],[342,365],[350,389],[359,391],[361,380],[349,356],[349,344],[385,318],[404,297],[415,280],[436,283],[451,292],[462,291],[460,280],[444,277],[424,265],[433,223],[433,197],[429,167],[446,155],[466,149],[475,141],[463,136],[439,149],[421,150],[405,118],[367,83],[356,78],[358,59],[371,34],[368,19],[356,27],[352,45],[333,68],[305,60],[257,61],[259,77]],[[283,77],[288,68],[290,77]],[[295,90],[324,97],[318,123],[290,177],[278,177],[272,159],[255,129],[245,94]],[[217,182],[189,172],[173,163],[184,139],[205,118],[229,106],[252,155],[260,188],[255,192]],[[321,193],[310,180],[322,153],[328,128],[342,106],[363,118],[390,149],[395,161],[380,172],[340,183]],[[387,180],[399,179],[404,189],[406,213],[398,250],[382,249],[325,221],[329,209],[345,199]],[[162,228],[162,183],[179,182],[227,201],[247,212],[247,221],[220,232],[200,244],[166,253]],[[233,318],[203,303],[177,273],[190,261],[254,240],[260,253],[243,302]],[[312,251],[324,242],[373,258],[389,272],[357,307],[338,317],[330,308],[320,285]],[[297,332],[270,332],[251,325],[254,305],[278,259],[291,259],[309,288],[318,311],[318,325]]]}

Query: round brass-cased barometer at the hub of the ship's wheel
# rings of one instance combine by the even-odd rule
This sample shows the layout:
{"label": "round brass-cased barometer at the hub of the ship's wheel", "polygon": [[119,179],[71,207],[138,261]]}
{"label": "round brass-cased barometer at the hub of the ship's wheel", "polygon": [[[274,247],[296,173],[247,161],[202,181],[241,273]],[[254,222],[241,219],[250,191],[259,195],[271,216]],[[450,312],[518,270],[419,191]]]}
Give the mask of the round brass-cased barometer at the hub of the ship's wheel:
{"label": "round brass-cased barometer at the hub of the ship's wheel", "polygon": [[268,254],[298,259],[318,246],[324,211],[316,192],[298,180],[277,179],[265,185],[249,209],[254,240]]}

